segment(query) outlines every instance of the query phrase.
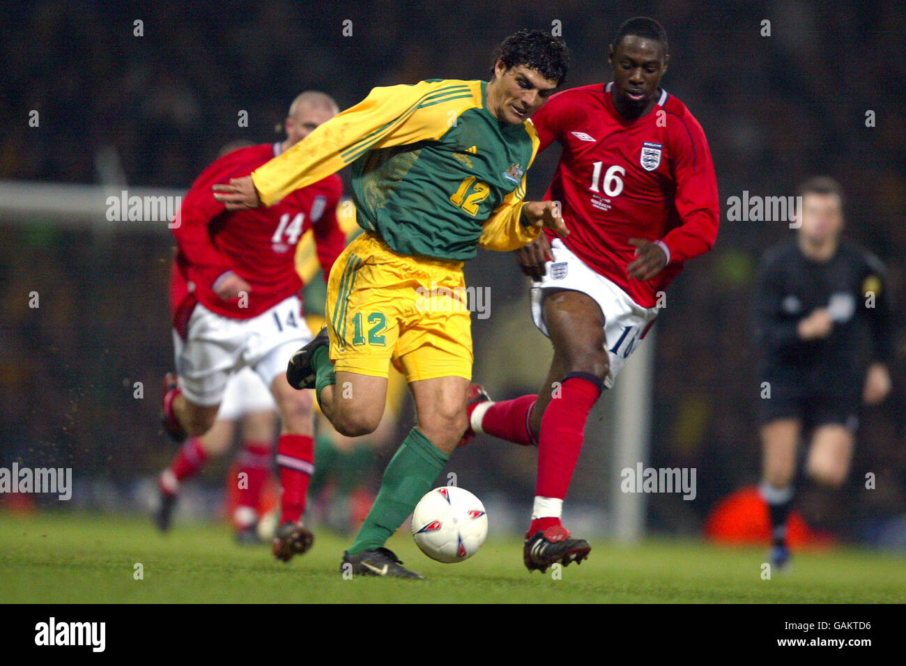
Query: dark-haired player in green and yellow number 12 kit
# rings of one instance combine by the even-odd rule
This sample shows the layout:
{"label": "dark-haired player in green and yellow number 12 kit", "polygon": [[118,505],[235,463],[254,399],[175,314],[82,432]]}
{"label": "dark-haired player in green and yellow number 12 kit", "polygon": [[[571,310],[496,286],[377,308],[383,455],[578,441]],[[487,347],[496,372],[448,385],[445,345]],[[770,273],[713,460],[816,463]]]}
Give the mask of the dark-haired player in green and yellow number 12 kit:
{"label": "dark-haired player in green and yellow number 12 kit", "polygon": [[214,186],[227,209],[270,206],[352,164],[365,233],[331,271],[326,333],[294,355],[287,379],[314,388],[336,429],[354,437],[380,423],[393,362],[409,382],[418,426],[390,460],[342,573],[420,577],[384,544],[467,428],[472,343],[462,264],[477,246],[516,249],[542,227],[568,233],[557,203],[523,200],[538,149],[529,117],[567,67],[564,43],[520,31],[497,48],[490,82],[375,88],[251,176]]}

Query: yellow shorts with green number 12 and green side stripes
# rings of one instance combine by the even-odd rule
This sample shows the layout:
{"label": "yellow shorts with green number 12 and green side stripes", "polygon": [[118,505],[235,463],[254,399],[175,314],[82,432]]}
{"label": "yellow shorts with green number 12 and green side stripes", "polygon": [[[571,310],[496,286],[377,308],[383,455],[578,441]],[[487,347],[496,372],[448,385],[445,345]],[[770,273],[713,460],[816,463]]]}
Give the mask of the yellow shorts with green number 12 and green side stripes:
{"label": "yellow shorts with green number 12 and green side stripes", "polygon": [[333,265],[327,331],[335,371],[406,381],[472,378],[472,320],[462,262],[400,255],[364,233]]}

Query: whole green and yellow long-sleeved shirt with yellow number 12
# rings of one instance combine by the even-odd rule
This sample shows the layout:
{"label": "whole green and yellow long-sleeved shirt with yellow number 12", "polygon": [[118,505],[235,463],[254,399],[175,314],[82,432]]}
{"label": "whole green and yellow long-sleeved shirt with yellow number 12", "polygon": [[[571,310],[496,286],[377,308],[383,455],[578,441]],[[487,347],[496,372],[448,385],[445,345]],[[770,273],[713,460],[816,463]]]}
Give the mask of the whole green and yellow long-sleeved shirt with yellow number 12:
{"label": "whole green and yellow long-sleeved shirt with yellow number 12", "polygon": [[487,111],[487,82],[375,88],[255,169],[270,206],[352,164],[360,227],[402,255],[466,261],[476,246],[512,250],[538,236],[520,224],[538,138]]}

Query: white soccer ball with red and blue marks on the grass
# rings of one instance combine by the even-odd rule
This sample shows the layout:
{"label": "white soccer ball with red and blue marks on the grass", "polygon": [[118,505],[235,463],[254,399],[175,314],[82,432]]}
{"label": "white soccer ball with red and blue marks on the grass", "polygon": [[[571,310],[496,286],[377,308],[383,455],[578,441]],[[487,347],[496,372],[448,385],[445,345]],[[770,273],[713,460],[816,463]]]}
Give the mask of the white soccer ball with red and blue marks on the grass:
{"label": "white soccer ball with red and blue marks on the grass", "polygon": [[467,560],[485,543],[485,507],[461,487],[434,488],[415,507],[412,537],[432,560],[448,565]]}

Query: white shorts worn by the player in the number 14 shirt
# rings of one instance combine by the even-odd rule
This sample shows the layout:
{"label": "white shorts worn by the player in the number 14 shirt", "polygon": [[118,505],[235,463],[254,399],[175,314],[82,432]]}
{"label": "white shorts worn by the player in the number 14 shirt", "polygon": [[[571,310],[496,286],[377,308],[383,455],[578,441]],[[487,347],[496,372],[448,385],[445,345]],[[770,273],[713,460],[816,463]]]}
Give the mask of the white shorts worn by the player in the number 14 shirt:
{"label": "white shorts worn by the player in the number 14 shirt", "polygon": [[312,340],[297,296],[252,319],[231,319],[195,306],[183,341],[173,331],[179,385],[189,401],[204,407],[223,400],[226,381],[249,366],[270,389],[290,357]]}

